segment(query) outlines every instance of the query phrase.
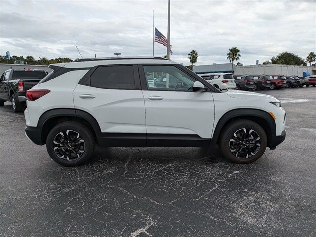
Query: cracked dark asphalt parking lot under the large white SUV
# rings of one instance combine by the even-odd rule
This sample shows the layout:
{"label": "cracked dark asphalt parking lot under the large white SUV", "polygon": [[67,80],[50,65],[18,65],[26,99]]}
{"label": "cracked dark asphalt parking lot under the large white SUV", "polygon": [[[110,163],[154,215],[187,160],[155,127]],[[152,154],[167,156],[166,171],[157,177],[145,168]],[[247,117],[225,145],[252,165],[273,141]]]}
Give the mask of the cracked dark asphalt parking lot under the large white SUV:
{"label": "cracked dark asphalt parking lot under the large white SUV", "polygon": [[65,168],[0,108],[1,236],[315,236],[316,88],[267,90],[287,137],[257,162],[219,149],[97,148]]}

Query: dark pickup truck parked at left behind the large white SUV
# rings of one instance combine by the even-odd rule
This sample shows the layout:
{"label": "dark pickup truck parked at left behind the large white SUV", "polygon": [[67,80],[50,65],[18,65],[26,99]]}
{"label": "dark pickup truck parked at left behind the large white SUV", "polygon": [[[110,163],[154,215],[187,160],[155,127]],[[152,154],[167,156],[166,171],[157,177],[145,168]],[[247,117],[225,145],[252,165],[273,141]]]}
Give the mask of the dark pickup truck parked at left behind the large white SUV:
{"label": "dark pickup truck parked at left behind the large white SUV", "polygon": [[39,69],[6,70],[0,78],[0,106],[4,106],[5,101],[11,101],[14,112],[23,111],[26,106],[26,91],[46,75],[44,70]]}

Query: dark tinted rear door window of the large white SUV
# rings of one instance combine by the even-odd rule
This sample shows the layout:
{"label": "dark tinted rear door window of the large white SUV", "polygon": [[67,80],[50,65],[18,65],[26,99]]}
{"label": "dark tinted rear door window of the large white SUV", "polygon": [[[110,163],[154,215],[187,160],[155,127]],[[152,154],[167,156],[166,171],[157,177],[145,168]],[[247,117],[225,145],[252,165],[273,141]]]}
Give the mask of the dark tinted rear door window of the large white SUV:
{"label": "dark tinted rear door window of the large white SUV", "polygon": [[133,66],[98,67],[90,77],[90,85],[104,89],[135,89]]}

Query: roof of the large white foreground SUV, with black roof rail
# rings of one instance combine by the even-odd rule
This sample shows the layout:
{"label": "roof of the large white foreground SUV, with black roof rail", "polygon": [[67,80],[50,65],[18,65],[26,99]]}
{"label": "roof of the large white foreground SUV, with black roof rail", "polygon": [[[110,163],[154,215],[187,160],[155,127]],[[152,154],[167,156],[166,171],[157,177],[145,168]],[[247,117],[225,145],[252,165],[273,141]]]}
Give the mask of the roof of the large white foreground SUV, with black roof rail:
{"label": "roof of the large white foreground SUV, with black roof rail", "polygon": [[87,58],[79,59],[71,63],[51,64],[65,68],[91,68],[98,65],[116,64],[178,64],[162,57],[111,57],[111,58]]}

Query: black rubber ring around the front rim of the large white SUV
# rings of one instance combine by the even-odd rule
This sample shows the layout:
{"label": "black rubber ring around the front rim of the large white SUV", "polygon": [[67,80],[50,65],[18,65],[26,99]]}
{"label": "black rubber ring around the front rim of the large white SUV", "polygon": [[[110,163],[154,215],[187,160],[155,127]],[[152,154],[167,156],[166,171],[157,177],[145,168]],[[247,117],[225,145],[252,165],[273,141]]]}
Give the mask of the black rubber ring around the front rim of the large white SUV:
{"label": "black rubber ring around the front rim of the large white SUV", "polygon": [[[234,132],[242,128],[253,129],[260,136],[261,144],[260,144],[259,151],[252,158],[247,158],[247,159],[237,158],[230,151],[229,140],[231,139],[231,136],[233,136]],[[226,158],[231,160],[232,162],[239,163],[239,164],[247,164],[247,163],[252,163],[256,161],[264,154],[266,147],[267,147],[267,135],[264,129],[257,123],[250,120],[239,120],[239,121],[230,123],[227,126],[227,128],[223,131],[220,138],[220,148],[221,148],[222,154]]]}

